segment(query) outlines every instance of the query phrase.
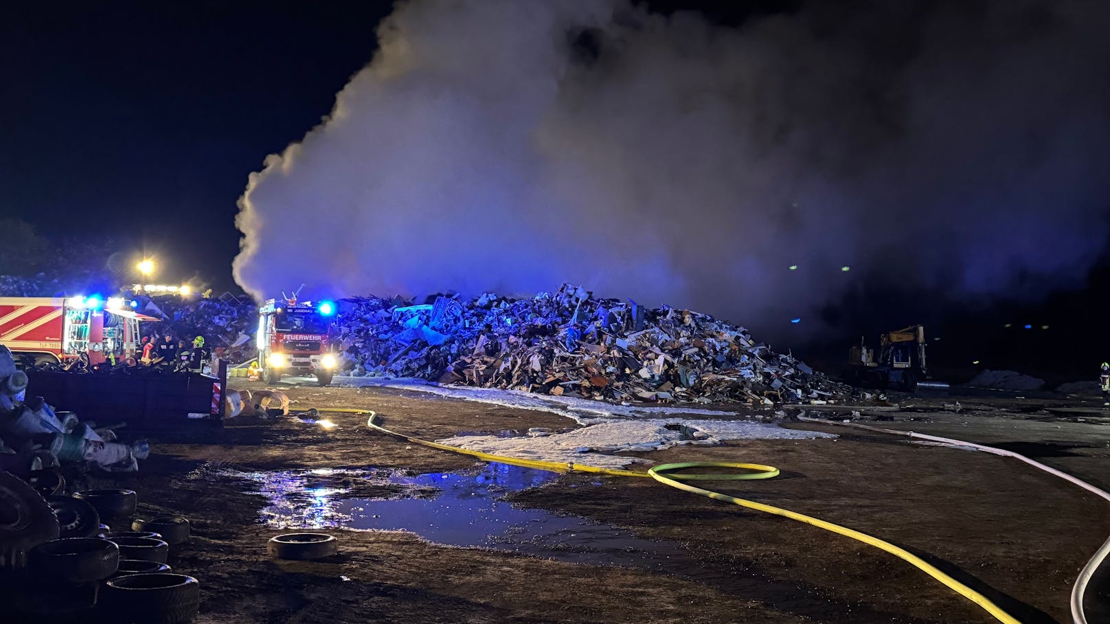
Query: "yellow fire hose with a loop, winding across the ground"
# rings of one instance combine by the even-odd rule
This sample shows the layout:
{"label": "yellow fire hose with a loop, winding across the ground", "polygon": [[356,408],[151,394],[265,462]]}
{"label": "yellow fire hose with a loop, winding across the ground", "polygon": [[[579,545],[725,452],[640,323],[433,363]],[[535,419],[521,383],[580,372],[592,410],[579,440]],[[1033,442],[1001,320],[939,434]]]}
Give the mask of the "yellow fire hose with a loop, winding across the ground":
{"label": "yellow fire hose with a loop, winding across the ground", "polygon": [[[452,453],[461,453],[463,455],[470,455],[485,462],[497,462],[504,464],[513,464],[524,467],[532,467],[538,470],[546,470],[553,472],[591,472],[601,474],[613,474],[617,476],[650,476],[652,479],[664,483],[672,487],[677,487],[686,492],[694,494],[700,494],[703,496],[708,496],[710,499],[716,499],[718,501],[725,501],[726,503],[733,503],[740,505],[741,507],[748,507],[751,510],[780,515],[783,517],[788,517],[805,524],[816,526],[818,529],[824,529],[825,531],[830,531],[838,535],[844,535],[846,537],[851,537],[852,540],[862,542],[865,544],[875,546],[876,548],[886,551],[904,561],[909,562],[915,567],[921,570],[929,576],[932,576],[937,581],[940,581],[946,586],[955,591],[956,593],[962,595],[969,601],[976,603],[980,607],[990,613],[999,622],[1006,622],[1007,624],[1020,624],[1017,618],[1012,615],[1002,611],[998,605],[990,602],[987,596],[983,596],[979,592],[976,592],[971,587],[968,587],[963,583],[960,583],[956,578],[952,578],[948,574],[945,574],[936,566],[930,565],[921,557],[910,553],[909,551],[898,547],[890,542],[879,540],[866,533],[860,533],[859,531],[854,531],[839,524],[834,524],[831,522],[826,522],[824,520],[793,512],[790,510],[784,510],[781,507],[776,507],[773,505],[765,505],[763,503],[757,503],[755,501],[748,501],[746,499],[738,499],[736,496],[729,496],[727,494],[722,494],[720,492],[713,492],[712,490],[704,490],[702,487],[695,487],[683,483],[683,481],[750,481],[756,479],[771,479],[778,475],[778,469],[775,466],[768,466],[763,464],[745,464],[745,463],[733,463],[733,462],[684,462],[674,464],[660,464],[647,470],[647,472],[638,472],[630,470],[619,470],[619,469],[602,469],[596,466],[581,465],[575,463],[561,463],[561,462],[544,462],[537,460],[522,460],[517,457],[509,457],[505,455],[494,455],[492,453],[483,453],[480,451],[471,451],[468,449],[460,449],[457,446],[451,446],[447,444],[440,444],[438,442],[431,442],[427,440],[422,440],[420,437],[413,437],[411,435],[404,435],[402,433],[396,433],[389,429],[385,429],[381,424],[381,417],[376,412],[372,410],[322,410],[327,412],[341,412],[351,414],[370,414],[366,421],[366,426],[401,440],[405,440],[413,444],[420,444],[422,446],[427,446],[431,449],[438,449],[441,451],[448,451]],[[754,472],[740,472],[740,473],[716,473],[716,474],[689,474],[689,473],[676,473],[675,471],[692,469],[692,467],[726,467],[726,469],[737,469]]]}

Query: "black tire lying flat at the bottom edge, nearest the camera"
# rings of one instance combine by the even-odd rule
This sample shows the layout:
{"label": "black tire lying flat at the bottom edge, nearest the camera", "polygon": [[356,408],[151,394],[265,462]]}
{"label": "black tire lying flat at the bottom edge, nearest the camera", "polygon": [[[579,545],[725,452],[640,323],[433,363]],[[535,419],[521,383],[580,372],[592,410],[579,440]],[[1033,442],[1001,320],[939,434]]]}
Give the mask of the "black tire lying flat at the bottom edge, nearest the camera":
{"label": "black tire lying flat at the bottom edge, nearest the camera", "polygon": [[185,624],[201,604],[201,584],[184,574],[129,574],[110,580],[100,605],[118,624]]}

